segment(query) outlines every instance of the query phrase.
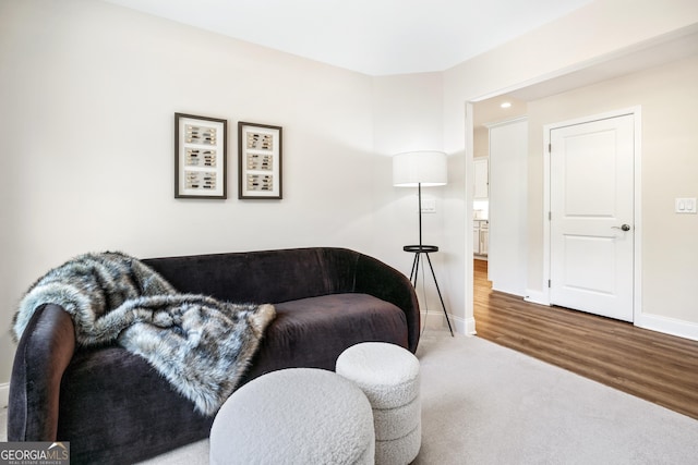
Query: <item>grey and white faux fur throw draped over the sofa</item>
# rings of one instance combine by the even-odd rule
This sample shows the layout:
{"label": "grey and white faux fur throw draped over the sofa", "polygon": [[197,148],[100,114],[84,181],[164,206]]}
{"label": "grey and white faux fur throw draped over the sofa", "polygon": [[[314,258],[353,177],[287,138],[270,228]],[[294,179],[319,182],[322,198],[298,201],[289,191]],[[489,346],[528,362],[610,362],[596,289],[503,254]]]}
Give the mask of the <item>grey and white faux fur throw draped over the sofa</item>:
{"label": "grey and white faux fur throw draped over the sofa", "polygon": [[34,283],[14,315],[15,341],[43,304],[71,315],[80,345],[116,342],[146,358],[204,415],[232,393],[276,316],[269,304],[180,294],[121,253],[81,255]]}

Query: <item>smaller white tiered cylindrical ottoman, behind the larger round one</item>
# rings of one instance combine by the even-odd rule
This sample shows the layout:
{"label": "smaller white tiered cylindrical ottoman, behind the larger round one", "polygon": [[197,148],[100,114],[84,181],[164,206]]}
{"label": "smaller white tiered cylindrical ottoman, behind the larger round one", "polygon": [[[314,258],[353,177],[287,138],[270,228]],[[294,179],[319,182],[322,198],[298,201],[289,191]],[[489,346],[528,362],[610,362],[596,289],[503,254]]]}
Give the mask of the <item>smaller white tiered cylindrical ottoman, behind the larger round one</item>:
{"label": "smaller white tiered cylindrical ottoman, behind the larger round one", "polygon": [[384,342],[352,345],[337,358],[337,374],[369,397],[375,425],[375,463],[405,465],[422,443],[419,360]]}

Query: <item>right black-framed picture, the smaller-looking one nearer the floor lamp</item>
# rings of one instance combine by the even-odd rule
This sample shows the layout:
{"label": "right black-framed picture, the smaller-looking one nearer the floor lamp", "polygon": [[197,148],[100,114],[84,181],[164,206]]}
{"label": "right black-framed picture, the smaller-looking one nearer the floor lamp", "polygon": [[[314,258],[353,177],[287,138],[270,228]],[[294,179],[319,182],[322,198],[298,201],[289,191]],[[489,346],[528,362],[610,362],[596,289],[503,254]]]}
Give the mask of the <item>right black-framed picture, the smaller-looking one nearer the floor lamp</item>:
{"label": "right black-framed picture, the smaller-looking one nearer the floor lamp", "polygon": [[238,123],[238,198],[282,198],[281,127]]}

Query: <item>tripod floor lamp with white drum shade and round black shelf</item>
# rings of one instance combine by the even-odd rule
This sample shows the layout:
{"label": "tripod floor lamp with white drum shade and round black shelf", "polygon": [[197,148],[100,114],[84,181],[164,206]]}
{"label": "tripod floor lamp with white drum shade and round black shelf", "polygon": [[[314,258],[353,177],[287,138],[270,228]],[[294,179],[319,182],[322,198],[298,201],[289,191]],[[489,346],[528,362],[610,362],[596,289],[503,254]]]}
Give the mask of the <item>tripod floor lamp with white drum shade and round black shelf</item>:
{"label": "tripod floor lamp with white drum shade and round black shelf", "polygon": [[442,151],[408,151],[393,157],[393,185],[396,187],[417,187],[419,198],[419,244],[406,245],[402,247],[405,252],[414,254],[412,271],[410,272],[410,281],[414,289],[417,289],[419,267],[420,265],[424,265],[423,257],[426,257],[426,262],[432,271],[432,278],[434,278],[434,284],[436,285],[436,292],[438,293],[441,306],[444,309],[444,316],[446,317],[450,335],[454,335],[454,330],[450,327],[450,320],[448,319],[448,313],[446,311],[446,305],[444,304],[444,297],[441,295],[436,274],[434,273],[434,267],[432,266],[432,260],[429,257],[429,254],[438,252],[438,247],[435,245],[424,245],[422,242],[422,187],[445,185],[448,178],[446,167],[446,154]]}

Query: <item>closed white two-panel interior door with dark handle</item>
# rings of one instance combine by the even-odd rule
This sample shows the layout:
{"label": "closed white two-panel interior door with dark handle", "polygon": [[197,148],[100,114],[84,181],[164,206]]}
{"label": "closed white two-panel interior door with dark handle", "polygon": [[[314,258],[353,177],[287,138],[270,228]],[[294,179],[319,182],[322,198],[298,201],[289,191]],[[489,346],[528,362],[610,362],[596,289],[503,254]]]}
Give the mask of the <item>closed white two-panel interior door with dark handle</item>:
{"label": "closed white two-panel interior door with dark handle", "polygon": [[551,304],[633,321],[634,115],[551,130]]}

